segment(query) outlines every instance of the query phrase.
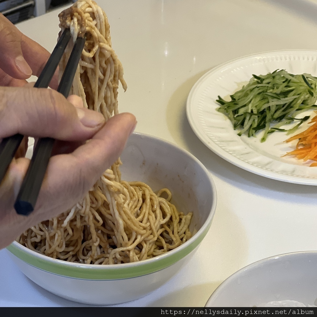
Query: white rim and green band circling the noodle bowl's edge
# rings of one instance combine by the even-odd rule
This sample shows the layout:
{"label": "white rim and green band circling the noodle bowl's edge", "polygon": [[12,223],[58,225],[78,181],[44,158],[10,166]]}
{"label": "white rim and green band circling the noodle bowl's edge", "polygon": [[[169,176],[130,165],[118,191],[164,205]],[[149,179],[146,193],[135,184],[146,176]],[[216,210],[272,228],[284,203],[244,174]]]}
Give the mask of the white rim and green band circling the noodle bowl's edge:
{"label": "white rim and green band circling the noodle bowl's edge", "polygon": [[188,241],[177,248],[168,251],[167,253],[140,262],[107,265],[81,264],[53,259],[28,249],[16,241],[12,242],[8,247],[6,247],[6,249],[23,262],[43,271],[85,280],[119,280],[147,275],[171,266],[196,249],[211,226],[217,206],[216,186],[209,171],[194,155],[170,141],[146,133],[134,132],[133,135],[134,137],[140,136],[142,138],[155,139],[156,141],[175,148],[176,150],[182,152],[183,155],[195,161],[195,163],[198,164],[207,176],[209,186],[211,188],[210,194],[213,196],[211,210],[201,228],[197,230],[197,232]]}

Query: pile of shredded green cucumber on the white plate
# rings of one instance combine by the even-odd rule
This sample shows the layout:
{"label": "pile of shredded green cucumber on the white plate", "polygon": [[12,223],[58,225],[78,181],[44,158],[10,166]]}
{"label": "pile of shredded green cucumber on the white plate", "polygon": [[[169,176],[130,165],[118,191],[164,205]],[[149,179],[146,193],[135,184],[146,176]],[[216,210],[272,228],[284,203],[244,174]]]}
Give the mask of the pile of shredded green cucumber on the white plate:
{"label": "pile of shredded green cucumber on the white plate", "polygon": [[[298,114],[317,107],[317,77],[310,74],[289,74],[284,69],[276,69],[267,75],[252,75],[249,83],[230,95],[226,101],[220,96],[216,100],[224,113],[232,122],[233,128],[239,130],[238,135],[249,137],[264,130],[261,142],[269,133],[287,131],[293,133],[309,116],[295,118]],[[298,120],[291,129],[280,127]]]}

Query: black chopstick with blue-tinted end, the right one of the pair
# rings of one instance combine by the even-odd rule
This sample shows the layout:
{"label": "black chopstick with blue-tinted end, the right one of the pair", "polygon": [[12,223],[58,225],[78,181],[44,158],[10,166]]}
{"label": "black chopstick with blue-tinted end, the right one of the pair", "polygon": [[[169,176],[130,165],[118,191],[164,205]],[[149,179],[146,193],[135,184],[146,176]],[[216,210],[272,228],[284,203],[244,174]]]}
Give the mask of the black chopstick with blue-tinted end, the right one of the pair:
{"label": "black chopstick with blue-tinted end, the right one of the pair", "polygon": [[[76,40],[60,84],[57,88],[57,91],[66,98],[68,97],[72,86],[84,45],[85,38],[78,38]],[[52,138],[41,138],[36,144],[29,168],[14,204],[16,212],[20,215],[27,216],[34,210],[47,165],[49,164],[54,141],[55,140]]]}

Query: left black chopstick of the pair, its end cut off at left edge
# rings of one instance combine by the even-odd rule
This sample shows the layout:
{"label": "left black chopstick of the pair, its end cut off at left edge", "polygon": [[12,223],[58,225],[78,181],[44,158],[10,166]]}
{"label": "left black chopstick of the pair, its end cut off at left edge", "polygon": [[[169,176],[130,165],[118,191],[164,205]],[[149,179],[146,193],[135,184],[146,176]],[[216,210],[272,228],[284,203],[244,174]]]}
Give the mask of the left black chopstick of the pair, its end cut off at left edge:
{"label": "left black chopstick of the pair, its end cut off at left edge", "polygon": [[[47,88],[53,78],[55,70],[64,53],[64,50],[70,40],[71,34],[69,29],[65,29],[58,40],[52,54],[45,64],[40,76],[38,77],[34,87]],[[0,183],[8,170],[8,167],[14,158],[16,150],[22,142],[23,135],[15,134],[11,137],[4,138],[0,144]]]}

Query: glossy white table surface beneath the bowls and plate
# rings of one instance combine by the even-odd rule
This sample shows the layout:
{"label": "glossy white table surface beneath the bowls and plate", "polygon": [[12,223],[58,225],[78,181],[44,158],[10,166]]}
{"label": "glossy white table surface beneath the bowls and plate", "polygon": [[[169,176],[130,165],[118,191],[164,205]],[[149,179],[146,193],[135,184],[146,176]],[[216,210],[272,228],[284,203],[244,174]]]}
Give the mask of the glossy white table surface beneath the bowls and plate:
{"label": "glossy white table surface beneath the bowls and plate", "polygon": [[[136,115],[136,131],[174,142],[195,155],[210,171],[218,197],[210,231],[191,261],[153,293],[116,306],[204,306],[222,281],[252,262],[317,250],[317,187],[264,178],[231,165],[204,146],[185,114],[187,95],[206,71],[262,51],[317,50],[317,22],[307,18],[305,10],[295,13],[272,1],[97,2],[109,18],[128,85],[126,93],[119,91],[120,112]],[[309,4],[317,12],[316,1]],[[60,11],[17,27],[51,52]],[[7,252],[0,251],[0,306],[83,306],[38,287]]]}

